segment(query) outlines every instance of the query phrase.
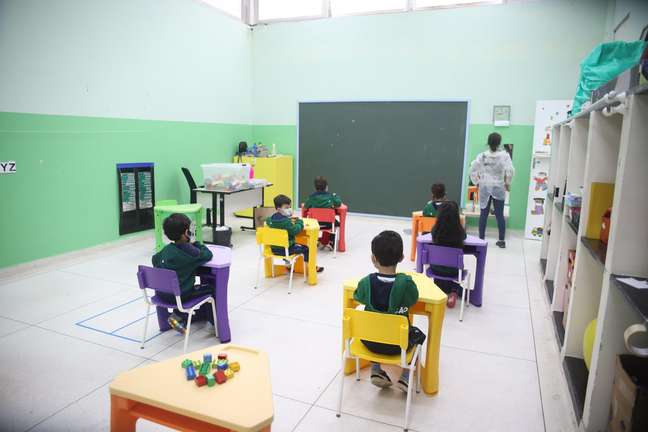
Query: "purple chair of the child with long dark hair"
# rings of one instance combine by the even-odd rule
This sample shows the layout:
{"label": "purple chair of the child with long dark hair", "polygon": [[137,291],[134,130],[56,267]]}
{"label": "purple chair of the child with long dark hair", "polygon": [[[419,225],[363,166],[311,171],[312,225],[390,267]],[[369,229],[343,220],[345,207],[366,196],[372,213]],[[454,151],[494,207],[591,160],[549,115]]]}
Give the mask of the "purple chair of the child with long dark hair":
{"label": "purple chair of the child with long dark hair", "polygon": [[[457,282],[461,285],[461,310],[459,311],[459,321],[463,321],[463,311],[466,305],[466,291],[468,292],[468,303],[470,303],[471,291],[471,275],[468,270],[464,268],[464,251],[462,248],[451,248],[446,246],[438,246],[435,244],[426,244],[423,246],[423,262],[430,265],[439,265],[456,268],[458,270],[457,276],[445,276],[434,273],[432,267],[427,270],[428,277],[433,279],[441,279],[452,282]],[[467,284],[466,284],[467,279]]]}

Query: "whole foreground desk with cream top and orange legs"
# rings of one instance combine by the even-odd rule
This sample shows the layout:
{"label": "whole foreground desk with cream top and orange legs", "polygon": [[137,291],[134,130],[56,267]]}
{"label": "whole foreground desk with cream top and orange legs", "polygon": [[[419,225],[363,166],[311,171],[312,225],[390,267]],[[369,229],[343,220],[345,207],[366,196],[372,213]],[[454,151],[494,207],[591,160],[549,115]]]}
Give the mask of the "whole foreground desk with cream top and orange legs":
{"label": "whole foreground desk with cream top and orange legs", "polygon": [[[226,352],[241,371],[231,381],[198,387],[185,379],[185,358]],[[110,430],[135,431],[144,418],[181,431],[270,431],[273,419],[268,355],[237,345],[216,345],[121,373],[110,384]]]}

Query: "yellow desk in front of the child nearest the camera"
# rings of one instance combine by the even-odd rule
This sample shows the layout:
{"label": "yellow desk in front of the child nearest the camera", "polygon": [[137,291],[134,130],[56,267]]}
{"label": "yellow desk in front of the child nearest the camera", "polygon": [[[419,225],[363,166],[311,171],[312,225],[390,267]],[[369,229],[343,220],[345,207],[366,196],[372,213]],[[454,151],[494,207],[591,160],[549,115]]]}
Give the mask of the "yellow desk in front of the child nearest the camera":
{"label": "yellow desk in front of the child nearest the camera", "polygon": [[[425,315],[428,319],[427,350],[425,364],[421,366],[421,386],[427,394],[436,394],[439,391],[439,350],[441,349],[441,328],[448,296],[434,284],[434,281],[420,273],[406,272],[416,283],[419,290],[419,300],[410,310],[417,315]],[[344,282],[343,308],[354,308],[359,303],[353,299],[353,292],[360,279]],[[368,362],[361,362],[362,367]],[[344,373],[349,375],[355,372],[355,361],[347,360]]]}

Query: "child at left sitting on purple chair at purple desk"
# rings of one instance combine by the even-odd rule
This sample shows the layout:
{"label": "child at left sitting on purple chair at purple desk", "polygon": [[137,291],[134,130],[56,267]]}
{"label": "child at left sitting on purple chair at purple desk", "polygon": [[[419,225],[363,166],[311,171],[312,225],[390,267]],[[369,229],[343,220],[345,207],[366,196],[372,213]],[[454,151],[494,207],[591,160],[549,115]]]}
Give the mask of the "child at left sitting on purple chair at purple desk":
{"label": "child at left sitting on purple chair at purple desk", "polygon": [[[153,267],[176,272],[180,283],[180,298],[183,303],[212,292],[213,288],[210,285],[195,285],[196,271],[212,259],[212,253],[202,243],[191,243],[191,219],[187,215],[174,213],[164,220],[162,228],[172,243],[153,255],[151,260]],[[167,303],[175,304],[176,302],[175,296],[172,294],[156,293],[156,295]],[[171,314],[169,317],[171,327],[180,333],[184,333],[182,321],[176,314]]]}

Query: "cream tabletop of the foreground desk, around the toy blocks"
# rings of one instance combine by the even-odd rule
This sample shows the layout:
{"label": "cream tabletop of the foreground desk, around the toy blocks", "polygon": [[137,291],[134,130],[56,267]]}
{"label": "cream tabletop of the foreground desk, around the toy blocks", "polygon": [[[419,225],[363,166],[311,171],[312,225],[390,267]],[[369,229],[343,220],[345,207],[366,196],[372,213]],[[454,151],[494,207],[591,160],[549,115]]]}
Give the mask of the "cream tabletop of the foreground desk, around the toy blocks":
{"label": "cream tabletop of the foreground desk, around the toy blocks", "polygon": [[[202,360],[203,353],[227,353],[241,370],[214,387],[187,381],[183,359]],[[238,345],[215,345],[119,374],[110,394],[152,405],[226,429],[258,431],[274,416],[268,355]]]}

